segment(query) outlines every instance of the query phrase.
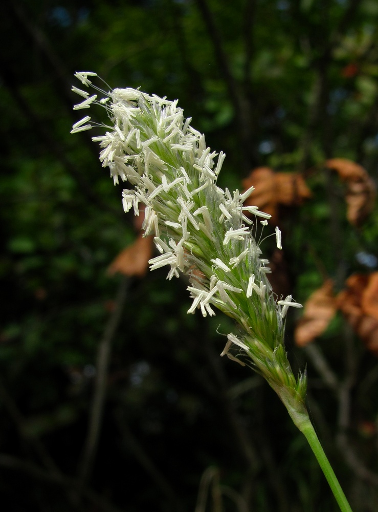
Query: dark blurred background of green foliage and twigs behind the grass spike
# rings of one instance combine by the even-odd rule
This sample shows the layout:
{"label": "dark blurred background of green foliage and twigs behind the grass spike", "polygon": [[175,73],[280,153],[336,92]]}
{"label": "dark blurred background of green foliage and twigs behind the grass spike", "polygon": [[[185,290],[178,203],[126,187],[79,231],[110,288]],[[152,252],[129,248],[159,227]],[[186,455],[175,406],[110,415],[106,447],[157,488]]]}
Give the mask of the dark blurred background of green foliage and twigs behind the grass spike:
{"label": "dark blurred background of green foliage and twigs behind the grass spike", "polygon": [[[70,135],[75,71],[179,98],[227,154],[222,187],[273,169],[260,169],[256,194],[269,197],[256,202],[283,233],[280,256],[263,243],[277,293],[305,303],[333,280],[332,314],[318,301],[323,327],[305,347],[290,312],[289,358],[307,367],[310,413],[354,512],[378,510],[378,3],[5,0],[1,13],[4,510],[337,510],[274,392],[219,357],[232,322],[187,315],[186,282],[164,268],[107,272],[138,227],[94,133]],[[335,158],[348,160],[325,164]],[[281,197],[284,175],[303,180],[303,198],[297,181]],[[356,285],[335,306],[356,274],[373,283],[368,299]]]}

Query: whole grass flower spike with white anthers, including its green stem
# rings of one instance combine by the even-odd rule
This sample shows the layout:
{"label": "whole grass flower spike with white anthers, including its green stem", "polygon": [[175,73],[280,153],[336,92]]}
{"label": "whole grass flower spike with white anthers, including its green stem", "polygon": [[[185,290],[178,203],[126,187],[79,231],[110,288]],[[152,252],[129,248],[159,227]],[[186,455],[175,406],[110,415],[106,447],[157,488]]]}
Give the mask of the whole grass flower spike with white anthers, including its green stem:
{"label": "whole grass flower spike with white anthers, including its green stem", "polygon": [[[246,361],[269,382],[321,459],[322,449],[305,406],[306,374],[294,375],[284,347],[287,309],[301,305],[291,295],[282,300],[272,292],[267,278],[269,261],[261,257],[251,233],[253,222],[246,214],[252,214],[256,222],[261,219],[263,225],[270,215],[256,206],[243,206],[253,187],[243,194],[238,190],[231,194],[217,186],[225,155],[211,152],[177,101],[130,88],[105,92],[91,81],[96,73],[75,76],[98,94],[90,96],[73,87],[84,98],[74,110],[102,105],[110,124],[98,125],[85,116],[71,133],[93,126],[105,129],[104,135],[93,140],[100,143],[102,166],[109,168],[114,182],[120,178],[132,187],[123,191],[124,210],[133,208],[139,215],[139,205],[145,205],[142,227],[146,236],[153,234],[160,253],[149,261],[151,270],[169,267],[167,279],[188,274],[193,301],[188,313],[200,309],[203,316],[213,316],[215,308],[234,318],[237,332],[227,335],[221,355],[242,365]],[[278,227],[276,242],[281,249]],[[338,482],[325,460],[320,461],[323,471],[346,512],[350,507],[341,488],[335,492]],[[327,464],[333,476],[327,475]]]}

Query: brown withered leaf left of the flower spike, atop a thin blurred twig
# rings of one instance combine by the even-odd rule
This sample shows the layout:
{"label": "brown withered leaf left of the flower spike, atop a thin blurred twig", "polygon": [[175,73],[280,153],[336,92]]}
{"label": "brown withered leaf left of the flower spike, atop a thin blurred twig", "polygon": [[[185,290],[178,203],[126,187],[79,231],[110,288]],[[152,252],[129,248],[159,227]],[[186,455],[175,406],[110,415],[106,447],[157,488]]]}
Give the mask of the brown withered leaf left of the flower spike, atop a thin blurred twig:
{"label": "brown withered leaf left of the flower spike, atop a thin blurred twig", "polygon": [[120,272],[124,275],[135,275],[142,278],[148,270],[148,260],[151,259],[152,247],[152,237],[142,237],[142,234],[140,234],[137,240],[123,249],[110,264],[107,269],[108,275]]}

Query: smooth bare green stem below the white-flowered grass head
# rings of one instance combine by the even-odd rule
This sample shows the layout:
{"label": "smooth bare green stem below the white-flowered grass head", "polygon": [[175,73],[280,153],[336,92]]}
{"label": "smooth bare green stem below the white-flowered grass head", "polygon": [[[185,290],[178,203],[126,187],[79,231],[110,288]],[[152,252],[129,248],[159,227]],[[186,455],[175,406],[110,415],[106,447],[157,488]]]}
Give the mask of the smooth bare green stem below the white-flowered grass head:
{"label": "smooth bare green stem below the white-flowered grass head", "polygon": [[[272,386],[272,385],[271,385]],[[335,473],[324,453],[323,447],[320,444],[319,438],[316,435],[314,426],[308,416],[308,412],[303,400],[293,394],[285,387],[272,386],[279,397],[281,398],[287,412],[290,414],[294,424],[302,432],[308,441],[315,457],[317,458],[320,467],[324,473],[325,478],[332,490],[333,496],[339,504],[341,512],[352,512],[348,500],[345,497],[343,489],[341,488]]]}

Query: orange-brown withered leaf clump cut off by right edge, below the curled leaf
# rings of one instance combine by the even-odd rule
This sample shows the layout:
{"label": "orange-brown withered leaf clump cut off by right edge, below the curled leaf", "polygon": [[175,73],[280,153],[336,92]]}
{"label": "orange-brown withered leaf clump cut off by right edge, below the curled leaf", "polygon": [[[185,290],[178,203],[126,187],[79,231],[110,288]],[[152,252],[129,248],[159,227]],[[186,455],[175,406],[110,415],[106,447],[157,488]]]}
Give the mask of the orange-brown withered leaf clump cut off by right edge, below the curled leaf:
{"label": "orange-brown withered leaf clump cut off by right edge, below the curled leaf", "polygon": [[354,274],[338,297],[339,309],[368,350],[378,355],[378,272]]}

